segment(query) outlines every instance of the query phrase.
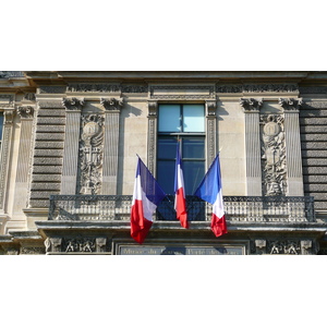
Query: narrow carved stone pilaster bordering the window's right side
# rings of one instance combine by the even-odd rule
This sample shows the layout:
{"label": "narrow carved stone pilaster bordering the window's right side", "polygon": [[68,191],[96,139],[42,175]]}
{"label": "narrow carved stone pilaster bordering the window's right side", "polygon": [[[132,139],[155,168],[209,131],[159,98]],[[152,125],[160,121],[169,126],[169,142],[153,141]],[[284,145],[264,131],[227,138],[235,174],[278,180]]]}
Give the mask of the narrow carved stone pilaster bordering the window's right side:
{"label": "narrow carved stone pilaster bordering the window's right side", "polygon": [[217,156],[217,101],[206,100],[206,169],[208,170]]}

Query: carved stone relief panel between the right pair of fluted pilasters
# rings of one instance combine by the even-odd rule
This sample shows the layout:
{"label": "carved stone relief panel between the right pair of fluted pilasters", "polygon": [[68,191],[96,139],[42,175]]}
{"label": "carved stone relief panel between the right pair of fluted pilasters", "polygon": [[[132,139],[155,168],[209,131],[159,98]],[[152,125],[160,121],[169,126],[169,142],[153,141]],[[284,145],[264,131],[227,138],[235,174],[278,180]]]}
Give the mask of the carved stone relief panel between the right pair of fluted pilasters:
{"label": "carved stone relief panel between the right pair of fluted pilasters", "polygon": [[262,124],[262,168],[264,195],[286,195],[287,166],[283,117],[266,114]]}

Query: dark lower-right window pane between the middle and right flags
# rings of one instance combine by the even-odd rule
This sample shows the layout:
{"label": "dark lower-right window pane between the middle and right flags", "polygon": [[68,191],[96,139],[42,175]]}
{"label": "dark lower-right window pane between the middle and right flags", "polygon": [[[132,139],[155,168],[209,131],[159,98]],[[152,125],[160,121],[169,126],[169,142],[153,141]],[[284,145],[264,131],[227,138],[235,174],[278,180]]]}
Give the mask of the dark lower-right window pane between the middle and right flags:
{"label": "dark lower-right window pane between the middle and right flags", "polygon": [[184,183],[187,195],[193,195],[205,173],[204,161],[183,161]]}

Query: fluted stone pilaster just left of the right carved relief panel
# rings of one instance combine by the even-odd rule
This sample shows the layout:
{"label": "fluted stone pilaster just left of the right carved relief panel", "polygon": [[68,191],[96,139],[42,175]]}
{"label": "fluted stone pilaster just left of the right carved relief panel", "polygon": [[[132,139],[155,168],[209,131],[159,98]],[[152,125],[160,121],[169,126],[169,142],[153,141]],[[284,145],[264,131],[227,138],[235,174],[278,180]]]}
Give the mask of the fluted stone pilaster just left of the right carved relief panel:
{"label": "fluted stone pilaster just left of the right carved relief panel", "polygon": [[246,194],[262,196],[259,108],[262,99],[240,99],[245,113]]}

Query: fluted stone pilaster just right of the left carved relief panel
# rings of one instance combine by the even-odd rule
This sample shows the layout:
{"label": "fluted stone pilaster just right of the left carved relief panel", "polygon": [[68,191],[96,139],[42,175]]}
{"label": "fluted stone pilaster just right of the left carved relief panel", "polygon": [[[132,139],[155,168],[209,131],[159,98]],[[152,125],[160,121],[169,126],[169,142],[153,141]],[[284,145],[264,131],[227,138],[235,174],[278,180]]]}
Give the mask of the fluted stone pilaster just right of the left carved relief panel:
{"label": "fluted stone pilaster just right of the left carved relief panel", "polygon": [[101,98],[105,113],[104,168],[101,193],[117,194],[119,118],[123,106],[122,98]]}

